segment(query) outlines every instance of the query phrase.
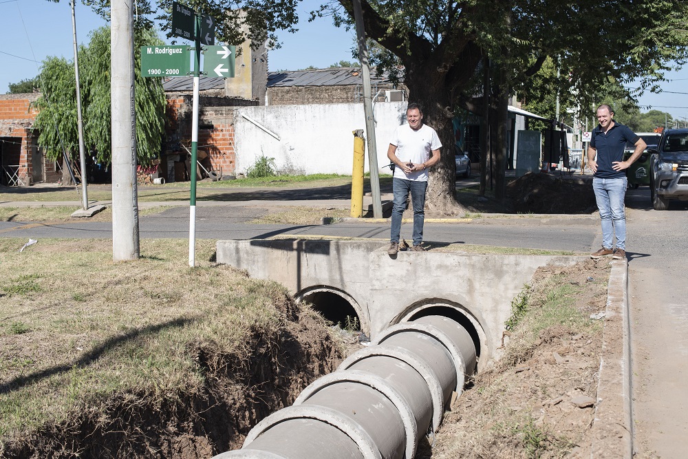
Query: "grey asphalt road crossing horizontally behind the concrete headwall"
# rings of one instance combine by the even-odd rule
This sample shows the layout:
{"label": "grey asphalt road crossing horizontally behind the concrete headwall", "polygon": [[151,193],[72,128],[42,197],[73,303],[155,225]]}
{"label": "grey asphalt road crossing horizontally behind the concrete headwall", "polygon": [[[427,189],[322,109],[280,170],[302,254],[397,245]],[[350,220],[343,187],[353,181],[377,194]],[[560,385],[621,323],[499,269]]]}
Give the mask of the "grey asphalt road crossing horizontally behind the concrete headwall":
{"label": "grey asphalt road crossing horizontally behind the concrete headwall", "polygon": [[[275,235],[325,235],[389,240],[385,223],[342,222],[332,225],[293,226],[237,222],[236,208],[197,209],[197,239],[261,239]],[[484,244],[551,250],[590,250],[598,224],[593,217],[524,217],[480,219],[473,222],[427,222],[427,242]],[[402,237],[411,239],[411,224],[402,226]],[[159,215],[141,217],[142,238],[188,238],[189,209],[176,208]],[[0,237],[111,238],[110,222],[75,221],[58,224],[0,222]]]}

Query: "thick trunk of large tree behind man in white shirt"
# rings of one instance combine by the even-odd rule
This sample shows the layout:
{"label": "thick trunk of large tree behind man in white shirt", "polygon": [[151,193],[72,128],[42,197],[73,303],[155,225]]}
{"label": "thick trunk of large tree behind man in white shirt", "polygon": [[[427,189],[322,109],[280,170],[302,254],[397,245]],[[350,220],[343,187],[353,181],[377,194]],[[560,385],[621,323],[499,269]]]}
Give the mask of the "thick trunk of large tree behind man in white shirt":
{"label": "thick trunk of large tree behind man in white shirt", "polygon": [[420,104],[423,122],[437,131],[442,142],[440,161],[429,170],[425,209],[444,215],[463,215],[466,209],[455,197],[456,163],[454,160],[454,128],[451,100],[444,81],[444,72],[436,65],[407,67],[409,102]]}

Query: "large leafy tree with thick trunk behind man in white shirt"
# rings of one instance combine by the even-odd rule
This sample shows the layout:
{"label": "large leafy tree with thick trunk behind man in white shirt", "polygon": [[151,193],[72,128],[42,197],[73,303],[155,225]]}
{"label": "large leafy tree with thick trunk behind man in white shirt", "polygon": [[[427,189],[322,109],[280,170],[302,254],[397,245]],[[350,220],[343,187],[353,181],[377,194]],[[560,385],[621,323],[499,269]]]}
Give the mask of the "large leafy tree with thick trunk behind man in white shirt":
{"label": "large leafy tree with thick trunk behind man in white shirt", "polygon": [[[107,0],[91,0],[103,8]],[[158,0],[156,19],[171,23],[173,0]],[[186,0],[217,20],[216,37],[239,45],[278,47],[277,32],[294,32],[298,0]],[[366,36],[387,50],[391,70],[402,69],[409,101],[424,107],[445,148],[430,171],[428,206],[460,210],[454,195],[452,118],[457,108],[482,113],[480,77],[490,68],[491,92],[506,119],[506,96],[526,85],[543,63],[557,62],[559,92],[571,91],[578,105],[597,102],[596,89],[611,81],[641,80],[643,89],[660,81],[669,62],[686,61],[682,0],[361,0]],[[352,27],[352,0],[330,0],[311,17],[329,15],[334,25]],[[171,36],[171,32],[168,32]],[[382,62],[381,62],[382,63]],[[383,69],[380,69],[380,71]],[[562,78],[561,75],[566,76]],[[502,123],[506,125],[506,122]],[[501,129],[501,128],[500,128]],[[499,129],[498,129],[499,130]],[[502,129],[503,130],[503,129]],[[502,134],[502,145],[504,145]]]}

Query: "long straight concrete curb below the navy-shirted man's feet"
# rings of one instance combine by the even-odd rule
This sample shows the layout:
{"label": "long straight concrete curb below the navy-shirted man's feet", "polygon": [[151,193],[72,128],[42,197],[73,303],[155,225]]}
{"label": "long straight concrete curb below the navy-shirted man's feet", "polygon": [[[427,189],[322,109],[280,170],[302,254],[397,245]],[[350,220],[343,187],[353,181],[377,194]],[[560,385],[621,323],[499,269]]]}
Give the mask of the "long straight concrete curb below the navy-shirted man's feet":
{"label": "long straight concrete curb below the navy-shirted man's feet", "polygon": [[592,458],[632,458],[628,264],[612,261],[607,287],[597,401],[592,424]]}

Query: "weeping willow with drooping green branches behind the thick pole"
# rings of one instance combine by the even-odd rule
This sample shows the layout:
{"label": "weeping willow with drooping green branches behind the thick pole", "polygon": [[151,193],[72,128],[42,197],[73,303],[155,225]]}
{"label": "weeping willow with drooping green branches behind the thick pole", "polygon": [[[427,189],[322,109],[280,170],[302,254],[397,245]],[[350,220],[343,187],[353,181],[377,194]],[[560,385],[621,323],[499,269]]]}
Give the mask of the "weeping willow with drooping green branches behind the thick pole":
{"label": "weeping willow with drooping green branches behind the thick pole", "polygon": [[[139,46],[164,45],[150,29],[139,28],[134,43]],[[166,100],[162,78],[141,76],[140,53],[136,56],[136,153],[139,164],[149,164],[160,153],[164,134]],[[79,77],[87,154],[98,162],[111,161],[110,114],[110,30],[94,30],[87,46],[79,47]],[[74,64],[65,58],[49,57],[41,68],[40,109],[34,127],[39,129],[39,146],[47,158],[63,154],[70,162],[78,156],[76,81]],[[63,168],[63,182],[69,182]]]}

